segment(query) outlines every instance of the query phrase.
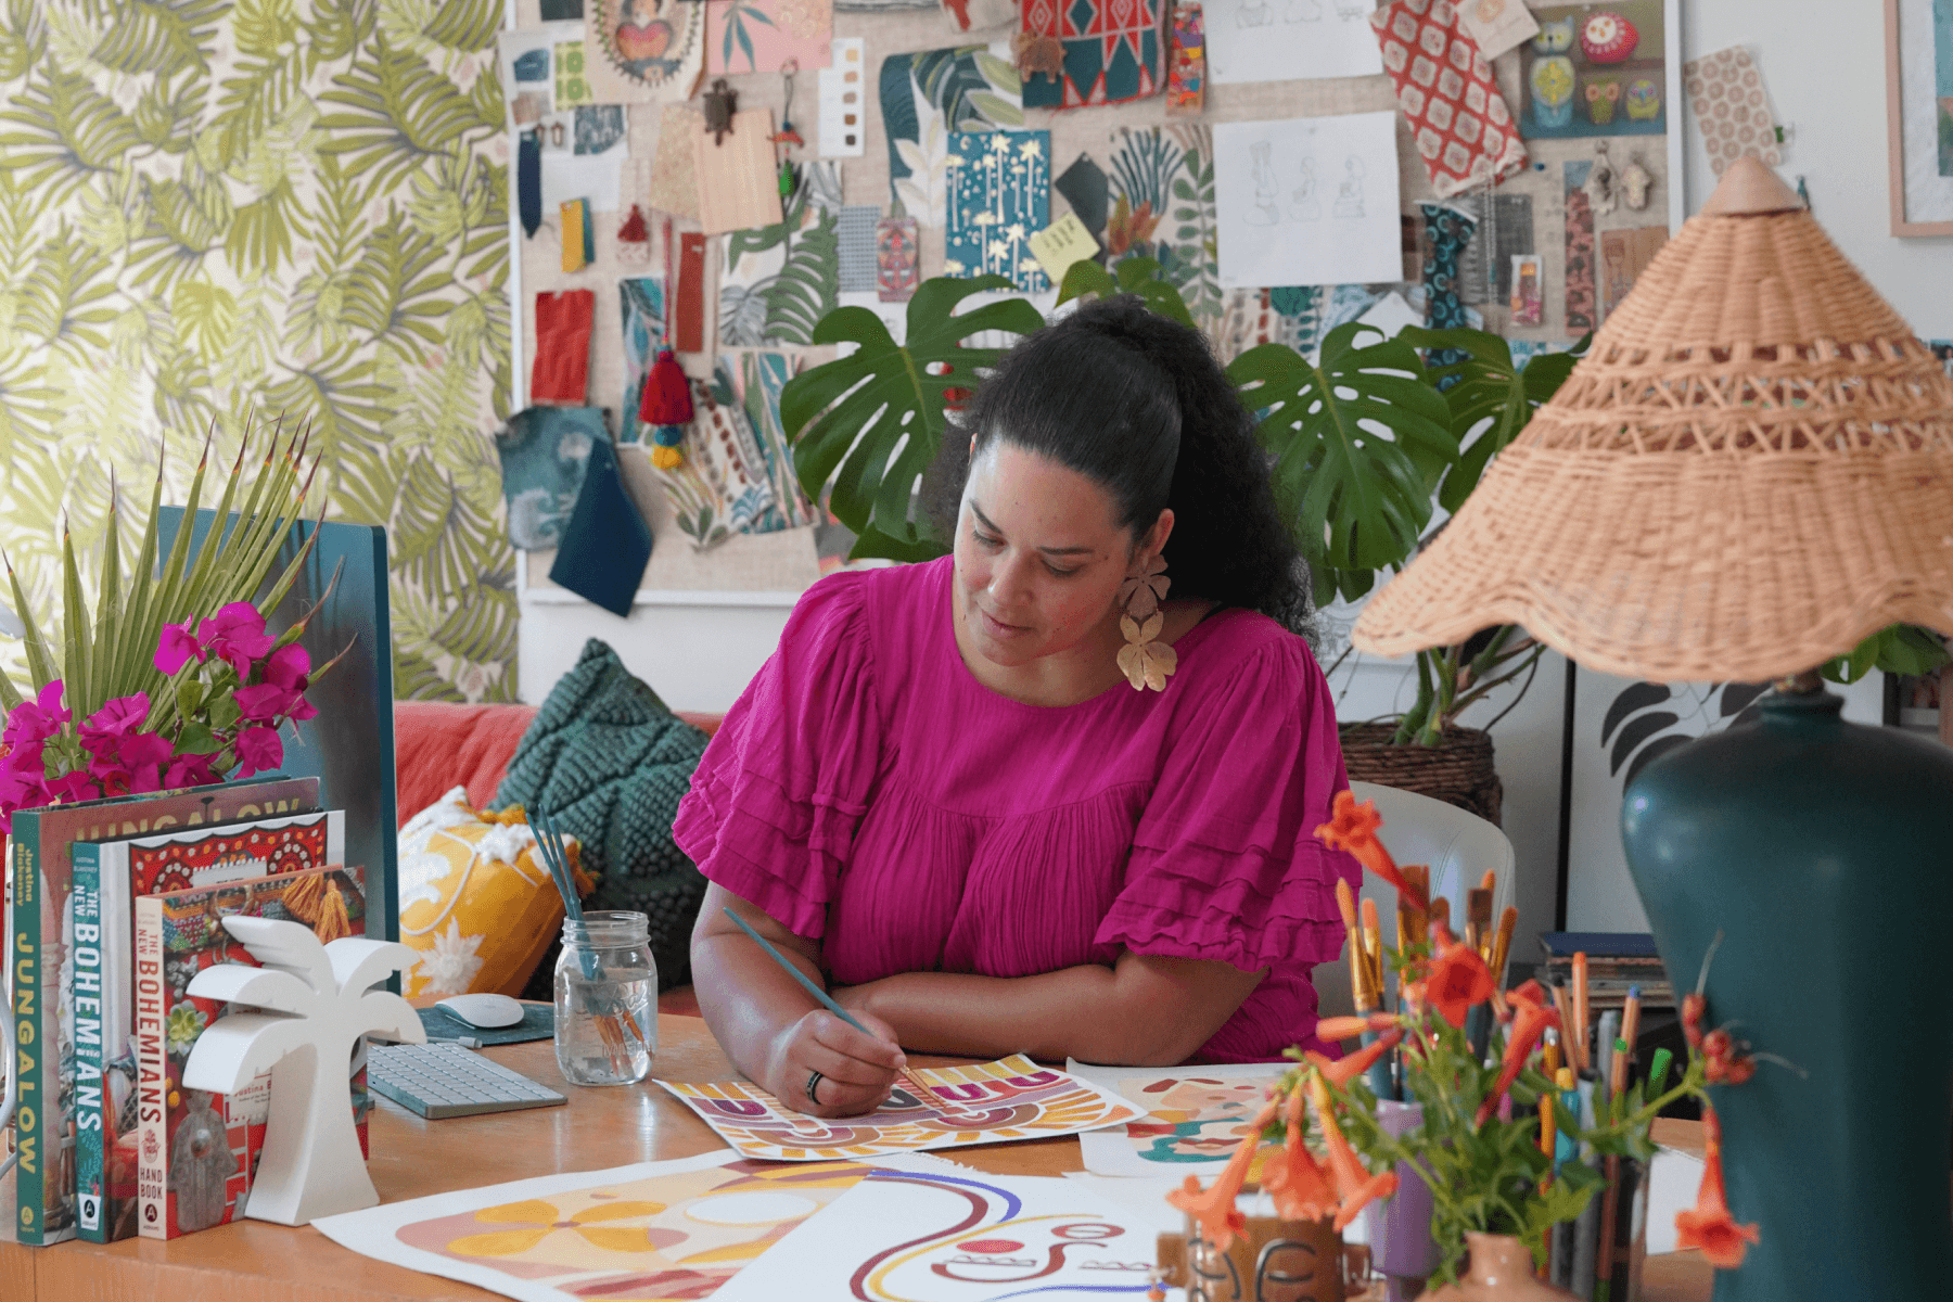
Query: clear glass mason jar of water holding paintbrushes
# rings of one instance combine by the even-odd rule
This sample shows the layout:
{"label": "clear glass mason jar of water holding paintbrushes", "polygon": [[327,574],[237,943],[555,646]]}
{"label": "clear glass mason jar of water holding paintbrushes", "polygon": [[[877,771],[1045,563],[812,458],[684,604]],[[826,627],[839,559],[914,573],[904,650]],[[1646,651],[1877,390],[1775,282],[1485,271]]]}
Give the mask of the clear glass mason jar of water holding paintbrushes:
{"label": "clear glass mason jar of water holding paintbrushes", "polygon": [[572,1085],[631,1085],[658,1052],[658,964],[643,914],[562,919],[557,1066]]}

